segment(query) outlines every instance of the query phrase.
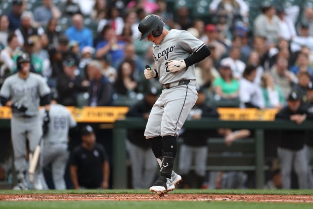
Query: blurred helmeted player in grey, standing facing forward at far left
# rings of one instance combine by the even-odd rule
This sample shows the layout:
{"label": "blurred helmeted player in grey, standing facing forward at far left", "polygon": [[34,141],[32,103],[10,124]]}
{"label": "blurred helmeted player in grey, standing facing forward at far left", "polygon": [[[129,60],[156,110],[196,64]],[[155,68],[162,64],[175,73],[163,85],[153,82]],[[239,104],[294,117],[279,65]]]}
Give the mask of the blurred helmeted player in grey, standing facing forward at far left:
{"label": "blurred helmeted player in grey, standing facing forward at far left", "polygon": [[[25,175],[26,139],[30,152],[34,152],[42,137],[39,101],[44,105],[45,120],[49,120],[50,88],[41,75],[30,72],[30,57],[23,53],[16,60],[18,72],[9,76],[0,90],[3,105],[12,107],[11,137],[14,151],[14,165],[17,172],[17,185],[14,190],[28,189]],[[42,189],[38,175],[41,171],[40,158],[36,166],[33,188]]]}

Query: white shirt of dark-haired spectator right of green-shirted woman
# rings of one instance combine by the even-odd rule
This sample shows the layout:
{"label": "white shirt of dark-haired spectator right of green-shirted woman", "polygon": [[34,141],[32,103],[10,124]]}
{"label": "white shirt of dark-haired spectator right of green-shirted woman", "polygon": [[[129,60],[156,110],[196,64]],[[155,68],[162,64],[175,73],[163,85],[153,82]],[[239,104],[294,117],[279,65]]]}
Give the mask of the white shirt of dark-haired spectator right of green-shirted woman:
{"label": "white shirt of dark-haired spectator right of green-shirted woman", "polygon": [[261,88],[259,86],[247,80],[246,78],[240,79],[239,85],[239,99],[241,108],[245,108],[245,103],[248,102],[259,108],[264,108],[265,102]]}

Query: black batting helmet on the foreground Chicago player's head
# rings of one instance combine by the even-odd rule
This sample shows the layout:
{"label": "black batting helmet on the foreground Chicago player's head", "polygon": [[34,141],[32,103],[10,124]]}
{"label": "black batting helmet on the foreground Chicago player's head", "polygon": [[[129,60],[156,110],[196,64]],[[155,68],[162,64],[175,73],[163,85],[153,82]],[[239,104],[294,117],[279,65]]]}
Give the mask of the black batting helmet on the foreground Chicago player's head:
{"label": "black batting helmet on the foreground Chicago player's head", "polygon": [[164,22],[157,15],[148,15],[140,21],[138,30],[141,33],[141,38],[145,39],[151,32],[153,37],[158,37],[162,34]]}

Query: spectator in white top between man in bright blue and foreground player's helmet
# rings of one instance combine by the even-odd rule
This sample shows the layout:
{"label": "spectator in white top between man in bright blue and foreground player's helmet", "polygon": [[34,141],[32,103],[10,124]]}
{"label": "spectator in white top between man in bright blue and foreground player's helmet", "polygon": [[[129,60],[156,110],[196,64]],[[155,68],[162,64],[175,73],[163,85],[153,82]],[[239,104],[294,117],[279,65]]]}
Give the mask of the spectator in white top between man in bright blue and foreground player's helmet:
{"label": "spectator in white top between man in bright blue and foreground player's helmet", "polygon": [[110,25],[115,31],[116,35],[122,34],[124,20],[120,17],[120,13],[117,7],[109,8],[107,19],[102,19],[99,21],[98,32],[103,31],[103,27],[106,25]]}

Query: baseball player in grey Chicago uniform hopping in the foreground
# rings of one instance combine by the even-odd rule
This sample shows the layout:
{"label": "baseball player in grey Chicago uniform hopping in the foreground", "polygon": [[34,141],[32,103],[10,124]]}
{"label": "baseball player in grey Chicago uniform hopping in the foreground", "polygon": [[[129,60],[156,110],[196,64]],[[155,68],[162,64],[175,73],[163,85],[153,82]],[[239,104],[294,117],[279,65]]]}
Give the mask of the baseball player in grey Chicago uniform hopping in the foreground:
{"label": "baseball player in grey Chicago uniform hopping in the foreground", "polygon": [[142,34],[141,40],[147,37],[154,44],[156,69],[146,66],[145,77],[159,77],[163,87],[145,130],[145,137],[161,166],[160,177],[150,191],[163,196],[182,181],[181,176],[172,171],[177,152],[176,138],[198,98],[194,64],[211,52],[191,33],[165,29],[164,22],[157,15],[146,16],[138,29]]}

